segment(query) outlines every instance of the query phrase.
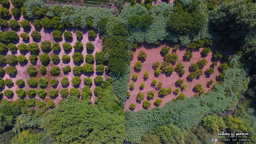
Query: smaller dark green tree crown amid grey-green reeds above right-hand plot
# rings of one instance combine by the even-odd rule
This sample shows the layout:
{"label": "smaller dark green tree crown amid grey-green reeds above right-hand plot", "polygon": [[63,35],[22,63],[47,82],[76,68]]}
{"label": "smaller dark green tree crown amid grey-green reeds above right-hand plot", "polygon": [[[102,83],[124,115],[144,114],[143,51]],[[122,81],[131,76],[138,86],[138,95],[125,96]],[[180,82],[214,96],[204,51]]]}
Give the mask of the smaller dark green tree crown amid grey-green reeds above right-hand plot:
{"label": "smaller dark green tree crown amid grey-green reeds above right-hand plot", "polygon": [[154,18],[151,15],[132,15],[128,18],[128,23],[135,28],[148,28]]}

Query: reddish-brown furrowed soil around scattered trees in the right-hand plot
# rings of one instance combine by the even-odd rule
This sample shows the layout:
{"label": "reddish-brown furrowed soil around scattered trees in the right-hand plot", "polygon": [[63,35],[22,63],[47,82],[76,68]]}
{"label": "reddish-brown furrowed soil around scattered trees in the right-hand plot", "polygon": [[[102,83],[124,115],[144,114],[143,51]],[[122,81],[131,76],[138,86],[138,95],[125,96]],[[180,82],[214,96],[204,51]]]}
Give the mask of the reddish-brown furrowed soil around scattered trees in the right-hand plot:
{"label": "reddish-brown furrowed soil around scattered trees in the right-hand plot", "polygon": [[[214,44],[211,47],[212,51],[214,51],[215,45],[216,44]],[[177,98],[177,96],[180,93],[185,94],[186,97],[192,97],[193,95],[195,95],[196,93],[193,92],[193,87],[196,84],[201,84],[202,88],[204,89],[204,91],[208,92],[211,89],[211,87],[207,87],[207,82],[210,79],[212,79],[214,81],[214,84],[216,83],[216,77],[219,75],[218,67],[214,68],[214,73],[211,74],[210,77],[207,77],[205,74],[203,74],[198,79],[193,79],[192,82],[187,81],[187,76],[189,74],[189,66],[191,65],[191,63],[196,63],[199,59],[202,59],[200,53],[202,52],[203,48],[200,48],[198,51],[193,52],[193,58],[190,61],[187,61],[187,62],[183,61],[183,56],[184,56],[184,54],[186,52],[185,48],[181,47],[180,50],[177,50],[175,52],[178,55],[178,61],[176,62],[175,65],[173,65],[173,67],[175,68],[175,66],[179,62],[182,63],[185,66],[185,68],[184,68],[185,74],[183,76],[179,77],[179,75],[175,71],[171,74],[171,76],[166,76],[163,73],[160,74],[160,76],[158,76],[158,77],[154,76],[154,72],[155,71],[152,68],[152,64],[153,64],[153,62],[156,62],[156,61],[160,62],[160,65],[163,63],[164,57],[161,56],[160,52],[161,52],[161,48],[164,47],[164,46],[170,47],[169,53],[173,53],[172,52],[172,47],[174,46],[174,44],[163,44],[163,45],[161,45],[159,47],[154,47],[154,46],[150,46],[148,44],[143,44],[134,53],[134,58],[131,61],[132,70],[131,70],[130,81],[129,81],[128,87],[129,87],[131,82],[134,82],[135,88],[132,91],[128,88],[128,91],[131,92],[131,96],[130,96],[129,99],[126,100],[125,106],[124,106],[124,110],[129,109],[129,106],[130,106],[131,103],[136,105],[136,108],[134,109],[134,111],[138,111],[138,110],[142,109],[143,108],[142,107],[142,103],[143,103],[144,100],[147,100],[147,93],[148,93],[148,91],[154,91],[155,92],[155,97],[152,100],[150,100],[150,102],[151,102],[151,107],[150,108],[155,107],[154,102],[158,98],[163,100],[162,104],[160,105],[160,107],[163,107],[166,102],[172,100],[173,98]],[[142,68],[141,68],[140,72],[138,73],[138,72],[134,71],[133,67],[134,67],[134,64],[138,61],[137,56],[138,56],[138,53],[140,51],[146,52],[147,53],[147,58],[142,63]],[[207,63],[206,66],[204,66],[204,68],[202,68],[203,71],[205,71],[207,68],[210,68],[210,65],[212,64],[212,60],[211,60],[212,59],[212,52],[210,52],[204,58],[208,61],[208,63]],[[218,66],[220,66],[220,61],[218,61]],[[149,75],[147,80],[143,79],[143,74],[144,74],[145,71],[148,71],[150,73],[150,75]],[[138,74],[138,79],[136,81],[132,80],[132,75],[134,73]],[[172,87],[172,91],[175,88],[177,88],[175,86],[175,82],[178,79],[183,79],[184,84],[186,84],[188,87],[187,87],[186,90],[181,91],[178,95],[175,95],[172,92],[171,94],[168,94],[165,97],[159,97],[158,96],[158,90],[156,90],[154,87],[151,86],[151,82],[152,82],[153,79],[157,79],[158,82],[162,82],[163,83],[162,87],[164,87],[164,88]],[[145,84],[145,87],[144,87],[143,90],[139,89],[139,86],[140,86],[141,83]],[[136,96],[137,96],[138,92],[142,92],[145,95],[143,101],[141,101],[140,103],[136,101]]]}

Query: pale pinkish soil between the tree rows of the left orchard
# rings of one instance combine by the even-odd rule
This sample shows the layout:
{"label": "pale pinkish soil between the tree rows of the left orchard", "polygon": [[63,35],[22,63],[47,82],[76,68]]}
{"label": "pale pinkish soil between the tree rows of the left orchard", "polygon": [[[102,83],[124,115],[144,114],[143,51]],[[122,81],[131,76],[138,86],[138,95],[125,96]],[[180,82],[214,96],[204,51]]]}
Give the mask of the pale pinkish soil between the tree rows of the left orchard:
{"label": "pale pinkish soil between the tree rows of the left orchard", "polygon": [[[11,10],[12,7],[13,7],[13,6],[12,6],[12,4],[11,4],[10,10]],[[11,19],[14,19],[13,16],[12,16]],[[24,18],[23,18],[23,16],[21,16],[19,19],[16,18],[16,20],[18,20],[18,21],[20,22],[20,21],[24,20]],[[32,23],[32,21],[31,21],[31,23]],[[35,27],[31,24],[31,29],[25,31],[25,32],[28,33],[28,35],[29,35],[29,42],[24,42],[24,43],[28,44],[28,43],[33,42],[33,39],[32,39],[32,37],[31,37],[31,33],[32,33],[32,31],[34,31],[34,30],[35,30]],[[76,28],[67,28],[66,30],[71,31],[71,33],[72,33],[73,40],[72,40],[72,41],[68,41],[68,42],[70,42],[70,44],[71,44],[72,47],[73,47],[73,46],[75,45],[75,43],[76,43]],[[65,31],[66,31],[66,30],[65,30]],[[101,41],[101,39],[100,39],[99,34],[97,35],[97,37],[96,37],[95,39],[93,39],[93,40],[90,39],[90,40],[89,40],[89,39],[88,39],[87,30],[84,30],[84,29],[77,29],[77,30],[80,30],[80,31],[83,32],[83,39],[82,39],[81,42],[82,42],[83,45],[84,45],[84,49],[83,49],[83,51],[82,51],[82,54],[84,55],[84,62],[80,65],[80,66],[83,66],[83,65],[85,64],[85,56],[87,55],[87,52],[86,52],[86,49],[85,49],[86,43],[89,42],[89,41],[91,41],[91,42],[94,44],[94,51],[92,52],[92,54],[93,54],[93,56],[95,57],[95,53],[96,53],[96,52],[100,52],[100,51],[102,50],[102,41]],[[53,30],[44,30],[44,28],[41,29],[41,31],[40,31],[41,40],[40,40],[40,41],[36,41],[36,43],[38,44],[39,49],[40,49],[39,55],[41,55],[41,54],[44,53],[44,52],[42,52],[42,50],[41,50],[41,48],[40,48],[40,45],[41,45],[41,42],[42,42],[42,41],[48,40],[48,41],[50,41],[50,42],[52,42],[52,43],[55,42],[55,41],[53,40],[53,37],[52,37],[52,34],[51,34],[52,31],[53,31]],[[20,35],[21,33],[24,33],[24,29],[23,29],[22,27],[20,28],[20,31],[17,31],[17,34],[18,34],[18,35]],[[20,43],[22,43],[22,42],[23,42],[23,40],[22,40],[22,38],[20,37],[20,40],[19,40],[19,42],[16,44],[16,46],[18,46],[18,44],[20,44]],[[61,57],[62,57],[64,54],[66,54],[66,53],[64,52],[64,50],[63,50],[63,47],[62,47],[62,44],[65,43],[66,41],[65,41],[64,37],[62,36],[62,40],[61,40],[61,41],[56,41],[56,42],[59,42],[60,48],[61,48],[61,51],[60,51],[59,53],[56,53],[56,54],[58,54],[59,57],[60,57],[60,59],[61,59]],[[73,59],[72,59],[73,53],[74,53],[74,49],[73,49],[73,48],[72,48],[72,50],[71,50],[70,53],[67,53],[67,54],[70,56],[70,62],[69,62],[68,64],[64,64],[64,63],[62,62],[62,60],[60,60],[60,62],[59,62],[58,64],[56,64],[56,66],[60,67],[60,69],[61,69],[61,72],[60,72],[60,75],[59,75],[59,76],[52,76],[51,73],[50,73],[50,69],[51,69],[53,66],[55,66],[55,64],[53,64],[52,61],[51,61],[50,64],[46,67],[46,69],[47,69],[47,75],[42,76],[42,75],[38,72],[38,74],[37,74],[37,76],[36,76],[36,79],[38,79],[39,77],[45,77],[45,78],[47,78],[47,80],[48,80],[48,82],[49,82],[49,83],[48,83],[48,87],[45,89],[46,92],[47,92],[48,90],[50,90],[50,89],[53,89],[52,86],[50,85],[50,80],[51,80],[52,78],[57,78],[57,79],[60,81],[64,76],[67,76],[67,77],[68,77],[68,80],[69,80],[69,86],[68,86],[67,88],[70,89],[70,88],[73,87],[72,82],[71,82],[72,77],[74,77],[73,72],[72,72],[72,69],[73,69],[73,67],[75,66],[75,64],[74,64],[74,62],[73,62]],[[16,53],[15,53],[15,52],[12,53],[12,52],[9,51],[7,54],[15,54],[16,56],[18,56],[18,55],[20,55],[21,53],[20,53],[20,51],[18,50]],[[28,57],[30,56],[30,53],[29,53],[29,52],[28,52],[28,53],[25,53],[25,54],[22,53],[22,54],[25,55],[27,59],[28,59]],[[51,57],[53,54],[54,54],[53,51],[49,52],[49,56],[50,56],[50,57]],[[38,55],[37,63],[35,64],[35,66],[36,66],[37,69],[39,69],[39,68],[41,67],[41,65],[42,65],[41,62],[39,61],[39,55]],[[19,99],[19,98],[17,97],[16,93],[15,93],[15,91],[16,91],[19,87],[15,84],[15,82],[16,82],[16,80],[18,80],[18,79],[23,79],[23,80],[25,81],[25,83],[27,82],[27,80],[30,78],[30,76],[27,74],[27,71],[26,71],[29,65],[31,65],[31,63],[30,63],[29,60],[28,60],[28,63],[27,63],[25,66],[21,66],[20,64],[17,64],[17,65],[15,66],[15,67],[17,68],[17,70],[18,70],[18,73],[17,73],[16,76],[10,77],[8,74],[5,74],[5,75],[4,75],[3,79],[10,78],[10,79],[12,79],[12,82],[14,83],[14,85],[13,85],[12,87],[10,87],[10,88],[8,88],[7,86],[5,86],[4,89],[1,89],[2,91],[6,90],[6,89],[10,89],[10,90],[12,90],[13,93],[14,93],[14,96],[13,96],[11,99],[8,99],[7,97],[3,96],[4,99],[8,99],[8,100],[17,100],[17,99]],[[64,75],[64,73],[63,73],[63,71],[62,71],[62,68],[65,67],[65,66],[67,66],[67,65],[69,65],[69,66],[71,67],[71,72],[69,72],[68,75]],[[8,64],[7,64],[6,66],[8,66]],[[5,66],[5,67],[6,67],[6,66]],[[92,103],[94,103],[94,99],[95,99],[95,96],[94,96],[94,94],[93,94],[93,89],[94,89],[94,87],[95,87],[93,78],[94,78],[95,76],[97,76],[97,75],[96,75],[96,70],[95,70],[95,69],[96,69],[96,64],[95,64],[95,62],[94,62],[93,67],[94,67],[94,73],[93,73],[91,76],[89,76],[90,78],[92,78],[92,87],[91,87],[91,90],[92,90],[91,101],[92,101]],[[82,75],[80,76],[80,78],[81,78],[81,84],[80,84],[80,86],[78,87],[78,89],[80,90],[80,92],[81,92],[81,89],[84,87],[84,81],[83,81],[83,80],[84,80],[84,77],[87,77],[87,75],[82,74]],[[103,77],[105,77],[105,73],[103,74]],[[26,90],[28,90],[29,88],[30,88],[30,87],[28,86],[28,84],[26,84],[23,89],[26,91]],[[57,89],[60,90],[61,88],[62,88],[62,86],[61,86],[61,84],[59,83],[59,85],[57,86]],[[35,90],[39,90],[39,89],[40,89],[39,86],[38,86],[37,88],[35,88]],[[47,96],[47,97],[48,97],[48,96]],[[46,97],[45,99],[48,99],[48,98],[49,98],[49,97],[48,97],[48,98],[47,98],[47,97]],[[39,98],[37,95],[36,95],[36,98],[39,99],[39,100],[42,100],[42,99]],[[53,101],[54,101],[55,104],[58,104],[58,101],[59,101],[60,99],[62,99],[62,97],[60,97],[60,94],[59,94],[59,96],[58,96],[57,98],[53,99]]]}

